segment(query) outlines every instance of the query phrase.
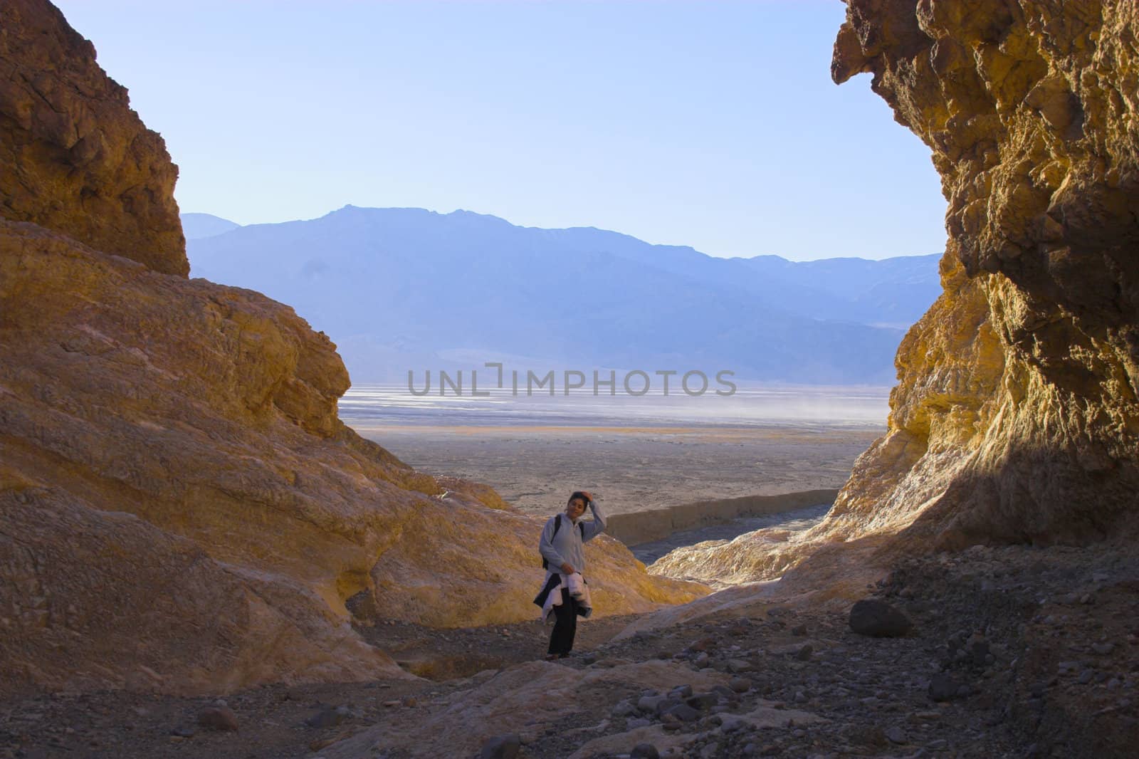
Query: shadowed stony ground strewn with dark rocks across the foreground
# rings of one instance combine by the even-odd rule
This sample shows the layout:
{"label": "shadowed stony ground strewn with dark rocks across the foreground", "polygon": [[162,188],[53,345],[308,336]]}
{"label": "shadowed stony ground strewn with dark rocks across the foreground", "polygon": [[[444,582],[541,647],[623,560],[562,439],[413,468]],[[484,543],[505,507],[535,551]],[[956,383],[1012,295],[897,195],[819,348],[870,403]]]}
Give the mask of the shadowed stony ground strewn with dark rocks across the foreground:
{"label": "shadowed stony ground strewn with dark rocks across the foreground", "polygon": [[536,622],[379,625],[371,642],[436,679],[31,694],[0,704],[0,757],[1133,756],[1136,556],[975,547],[867,591],[912,629],[770,605],[622,638],[630,618],[603,618],[549,663]]}

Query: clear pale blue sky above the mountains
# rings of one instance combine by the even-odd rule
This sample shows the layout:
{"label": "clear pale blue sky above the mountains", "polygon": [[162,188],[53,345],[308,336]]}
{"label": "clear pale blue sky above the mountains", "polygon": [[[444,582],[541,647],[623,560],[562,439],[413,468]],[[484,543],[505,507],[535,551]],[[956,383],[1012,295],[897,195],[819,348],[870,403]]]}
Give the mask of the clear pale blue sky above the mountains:
{"label": "clear pale blue sky above the mountains", "polygon": [[181,169],[239,223],[345,204],[593,226],[713,255],[935,253],[928,150],[838,0],[58,0]]}

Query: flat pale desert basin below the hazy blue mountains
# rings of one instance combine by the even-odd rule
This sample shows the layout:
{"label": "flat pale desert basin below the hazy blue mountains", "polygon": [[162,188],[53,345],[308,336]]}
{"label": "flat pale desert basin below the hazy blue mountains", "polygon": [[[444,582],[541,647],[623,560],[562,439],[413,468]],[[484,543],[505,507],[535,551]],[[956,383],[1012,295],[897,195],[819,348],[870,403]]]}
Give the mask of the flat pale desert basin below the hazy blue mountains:
{"label": "flat pale desert basin below the hazy blue mountains", "polygon": [[353,389],[341,417],[417,470],[485,482],[524,512],[588,489],[618,514],[841,487],[885,432],[886,393],[827,390],[560,402]]}

